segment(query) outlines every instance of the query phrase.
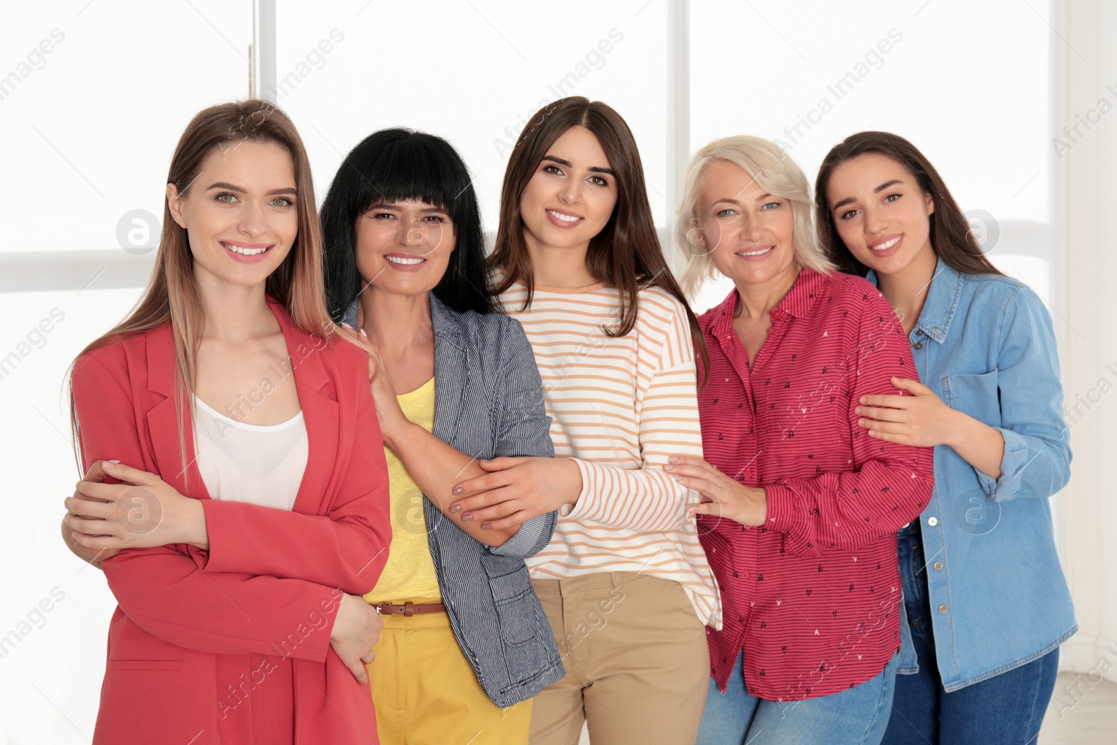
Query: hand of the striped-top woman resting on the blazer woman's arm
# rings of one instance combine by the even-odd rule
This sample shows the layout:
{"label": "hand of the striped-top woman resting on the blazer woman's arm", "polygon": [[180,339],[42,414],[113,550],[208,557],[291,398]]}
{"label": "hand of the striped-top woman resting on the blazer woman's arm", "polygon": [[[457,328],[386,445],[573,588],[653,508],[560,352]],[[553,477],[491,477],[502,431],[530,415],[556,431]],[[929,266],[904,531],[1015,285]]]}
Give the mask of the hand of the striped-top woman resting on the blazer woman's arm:
{"label": "hand of the striped-top woman resting on the blazer woman's arm", "polygon": [[454,495],[471,495],[450,505],[465,522],[480,520],[485,529],[519,527],[533,517],[577,503],[582,471],[569,458],[494,458],[479,460],[489,471],[454,487]]}

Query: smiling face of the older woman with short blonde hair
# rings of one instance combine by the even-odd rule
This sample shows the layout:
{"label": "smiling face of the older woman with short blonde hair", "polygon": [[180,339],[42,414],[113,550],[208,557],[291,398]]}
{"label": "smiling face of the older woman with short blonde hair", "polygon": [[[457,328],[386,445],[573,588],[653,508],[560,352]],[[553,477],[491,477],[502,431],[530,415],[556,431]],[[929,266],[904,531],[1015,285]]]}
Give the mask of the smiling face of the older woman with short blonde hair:
{"label": "smiling face of the older woman with short blonde hair", "polygon": [[744,169],[714,161],[695,206],[701,246],[741,292],[786,292],[795,265],[791,202],[767,193]]}

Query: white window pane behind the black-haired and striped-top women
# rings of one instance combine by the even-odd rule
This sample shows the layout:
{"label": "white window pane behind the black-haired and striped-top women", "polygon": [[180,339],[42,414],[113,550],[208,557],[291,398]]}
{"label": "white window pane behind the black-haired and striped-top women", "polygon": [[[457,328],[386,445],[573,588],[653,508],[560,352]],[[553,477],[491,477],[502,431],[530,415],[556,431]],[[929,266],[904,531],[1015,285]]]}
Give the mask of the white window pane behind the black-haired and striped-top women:
{"label": "white window pane behind the black-haired and striped-top women", "polygon": [[281,3],[276,27],[277,97],[306,142],[319,200],[357,142],[407,126],[458,149],[495,231],[508,153],[527,117],[580,95],[604,101],[632,128],[663,223],[662,2]]}

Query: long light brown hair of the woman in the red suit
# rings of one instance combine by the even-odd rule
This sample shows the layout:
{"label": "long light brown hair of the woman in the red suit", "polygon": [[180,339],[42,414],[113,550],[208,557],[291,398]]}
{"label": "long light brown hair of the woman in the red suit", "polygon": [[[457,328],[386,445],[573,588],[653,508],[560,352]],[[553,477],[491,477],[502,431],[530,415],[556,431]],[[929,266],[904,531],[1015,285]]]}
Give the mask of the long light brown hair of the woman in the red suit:
{"label": "long light brown hair of the woman in the red suit", "polygon": [[[267,278],[265,290],[286,306],[295,326],[302,331],[318,334],[327,343],[337,337],[349,340],[347,335],[338,332],[326,311],[322,280],[322,237],[311,164],[295,125],[283,111],[266,101],[247,99],[199,112],[179,140],[166,182],[173,183],[179,194],[188,195],[194,180],[201,174],[203,162],[211,153],[246,141],[280,145],[290,154],[295,168],[298,235],[283,264]],[[182,399],[185,394],[193,413],[198,350],[206,324],[204,298],[194,284],[193,265],[187,230],[174,221],[170,204],[164,199],[163,229],[147,287],[127,317],[88,344],[78,355],[80,359],[113,342],[152,331],[170,322],[174,336],[175,413],[183,467],[187,464],[187,446]],[[83,465],[73,383],[69,391],[70,430],[80,470]]]}

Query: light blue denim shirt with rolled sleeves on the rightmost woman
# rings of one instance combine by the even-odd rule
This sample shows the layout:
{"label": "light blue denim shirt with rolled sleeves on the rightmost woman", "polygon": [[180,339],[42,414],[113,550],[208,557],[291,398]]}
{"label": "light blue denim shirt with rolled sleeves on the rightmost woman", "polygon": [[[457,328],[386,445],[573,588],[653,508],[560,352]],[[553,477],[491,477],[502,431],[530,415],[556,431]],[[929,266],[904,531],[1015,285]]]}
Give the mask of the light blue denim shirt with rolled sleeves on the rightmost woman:
{"label": "light blue denim shirt with rolled sleeves on the rightmost woman", "polygon": [[[873,271],[866,277],[877,284]],[[919,516],[938,671],[947,693],[1025,665],[1078,630],[1048,497],[1070,477],[1054,331],[1023,283],[942,258],[909,335],[919,378],[1004,437],[1001,478],[935,448]],[[904,605],[900,605],[904,609]],[[918,672],[906,613],[900,674]]]}

